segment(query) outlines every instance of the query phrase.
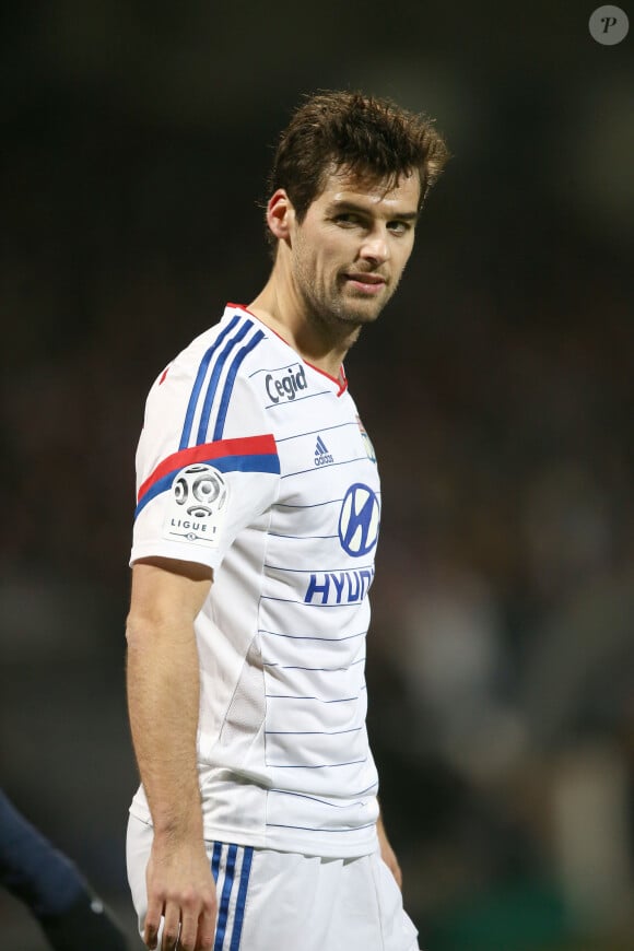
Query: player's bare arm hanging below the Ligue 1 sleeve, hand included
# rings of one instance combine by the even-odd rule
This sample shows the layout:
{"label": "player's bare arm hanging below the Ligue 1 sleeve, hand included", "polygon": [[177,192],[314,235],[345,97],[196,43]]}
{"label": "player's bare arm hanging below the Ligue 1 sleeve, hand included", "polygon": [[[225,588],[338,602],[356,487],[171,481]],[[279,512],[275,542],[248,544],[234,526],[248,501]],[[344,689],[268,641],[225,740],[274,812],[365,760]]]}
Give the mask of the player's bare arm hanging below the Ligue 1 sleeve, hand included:
{"label": "player's bare arm hanging below the Ligue 1 sleeve, hand included", "polygon": [[193,621],[211,587],[210,568],[146,559],[132,570],[127,624],[128,708],[154,841],[148,862],[144,941],[162,949],[212,947],[215,885],[208,860],[196,764],[199,661]]}

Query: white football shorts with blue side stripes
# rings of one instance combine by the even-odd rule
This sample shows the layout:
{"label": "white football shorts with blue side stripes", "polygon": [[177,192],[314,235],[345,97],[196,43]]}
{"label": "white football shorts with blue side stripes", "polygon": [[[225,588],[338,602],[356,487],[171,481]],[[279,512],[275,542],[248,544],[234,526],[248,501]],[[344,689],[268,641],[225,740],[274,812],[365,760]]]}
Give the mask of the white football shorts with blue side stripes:
{"label": "white football shorts with blue side stripes", "polygon": [[[141,935],[152,836],[151,825],[130,815],[128,880]],[[220,842],[207,850],[218,890],[213,951],[419,951],[378,854],[320,858]]]}

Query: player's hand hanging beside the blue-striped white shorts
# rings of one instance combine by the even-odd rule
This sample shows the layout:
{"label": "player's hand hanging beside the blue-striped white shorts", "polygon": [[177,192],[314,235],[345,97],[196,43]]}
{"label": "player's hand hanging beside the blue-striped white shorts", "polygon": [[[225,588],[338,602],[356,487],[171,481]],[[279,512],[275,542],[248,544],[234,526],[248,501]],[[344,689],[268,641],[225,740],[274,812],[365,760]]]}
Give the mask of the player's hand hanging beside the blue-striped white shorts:
{"label": "player's hand hanging beside the blue-striped white shorts", "polygon": [[218,903],[204,845],[154,838],[146,871],[148,914],[143,940],[158,951],[209,951],[213,947]]}

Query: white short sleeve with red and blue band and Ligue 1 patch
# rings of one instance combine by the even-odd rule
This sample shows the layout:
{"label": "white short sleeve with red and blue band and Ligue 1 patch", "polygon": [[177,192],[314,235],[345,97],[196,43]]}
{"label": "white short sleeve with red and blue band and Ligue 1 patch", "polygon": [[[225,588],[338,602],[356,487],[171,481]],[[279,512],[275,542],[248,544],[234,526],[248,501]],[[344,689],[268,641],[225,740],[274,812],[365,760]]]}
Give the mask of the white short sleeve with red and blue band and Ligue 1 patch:
{"label": "white short sleeve with red and blue band and Ligue 1 patch", "polygon": [[210,398],[210,349],[195,342],[148,397],[131,563],[164,556],[216,568],[277,497],[280,461],[261,401],[246,373]]}

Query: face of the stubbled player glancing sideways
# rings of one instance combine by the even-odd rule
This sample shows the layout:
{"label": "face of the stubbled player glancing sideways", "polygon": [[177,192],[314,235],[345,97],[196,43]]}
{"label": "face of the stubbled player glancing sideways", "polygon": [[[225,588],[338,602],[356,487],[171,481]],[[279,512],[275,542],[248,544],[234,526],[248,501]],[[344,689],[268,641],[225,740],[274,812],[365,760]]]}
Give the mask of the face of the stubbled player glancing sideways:
{"label": "face of the stubbled player glancing sideways", "polygon": [[308,317],[330,326],[375,320],[396,291],[414,243],[420,181],[360,183],[330,175],[291,232],[291,268]]}

